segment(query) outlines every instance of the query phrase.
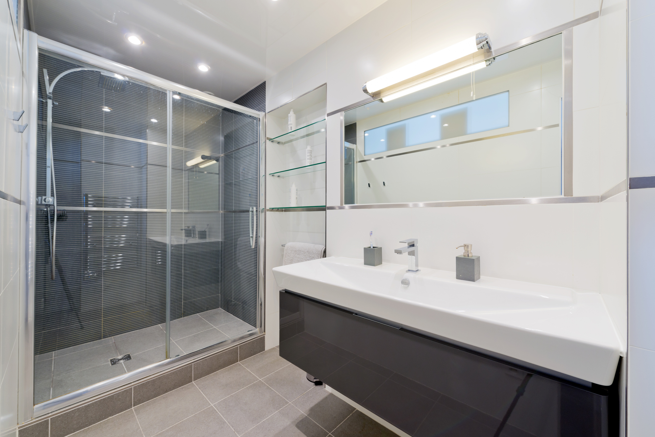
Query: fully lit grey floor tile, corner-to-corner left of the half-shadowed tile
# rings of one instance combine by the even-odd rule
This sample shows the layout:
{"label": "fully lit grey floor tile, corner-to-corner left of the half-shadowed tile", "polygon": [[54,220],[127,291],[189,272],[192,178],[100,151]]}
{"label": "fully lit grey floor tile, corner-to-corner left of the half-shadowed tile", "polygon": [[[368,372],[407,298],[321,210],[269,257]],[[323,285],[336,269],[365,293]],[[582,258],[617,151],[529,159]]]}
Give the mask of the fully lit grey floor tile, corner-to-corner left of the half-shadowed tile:
{"label": "fully lit grey floor tile, corner-to-corner left of the half-shadowed tile", "polygon": [[227,423],[241,435],[288,402],[265,383],[257,381],[214,404]]}

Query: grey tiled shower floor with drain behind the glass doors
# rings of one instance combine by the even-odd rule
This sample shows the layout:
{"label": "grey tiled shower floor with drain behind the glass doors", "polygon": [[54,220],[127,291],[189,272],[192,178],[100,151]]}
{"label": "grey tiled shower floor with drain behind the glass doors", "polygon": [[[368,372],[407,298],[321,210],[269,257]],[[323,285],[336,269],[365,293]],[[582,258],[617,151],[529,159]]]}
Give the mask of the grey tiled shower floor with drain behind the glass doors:
{"label": "grey tiled shower floor with drain behind the glass doors", "polygon": [[[128,371],[164,360],[166,326],[155,325],[83,345],[37,355],[34,402],[39,404]],[[170,356],[256,329],[223,309],[213,309],[170,323]],[[132,360],[111,366],[109,359],[131,354]]]}

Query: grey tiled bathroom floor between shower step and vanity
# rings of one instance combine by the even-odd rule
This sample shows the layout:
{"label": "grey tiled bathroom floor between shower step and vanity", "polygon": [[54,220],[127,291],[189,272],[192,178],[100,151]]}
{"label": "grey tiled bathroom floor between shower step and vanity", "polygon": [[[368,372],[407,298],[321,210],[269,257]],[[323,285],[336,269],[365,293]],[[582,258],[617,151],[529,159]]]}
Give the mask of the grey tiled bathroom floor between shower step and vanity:
{"label": "grey tiled bathroom floor between shower step and vanity", "polygon": [[[307,381],[276,348],[149,400],[74,437],[394,437]],[[397,436],[396,436],[397,437]]]}

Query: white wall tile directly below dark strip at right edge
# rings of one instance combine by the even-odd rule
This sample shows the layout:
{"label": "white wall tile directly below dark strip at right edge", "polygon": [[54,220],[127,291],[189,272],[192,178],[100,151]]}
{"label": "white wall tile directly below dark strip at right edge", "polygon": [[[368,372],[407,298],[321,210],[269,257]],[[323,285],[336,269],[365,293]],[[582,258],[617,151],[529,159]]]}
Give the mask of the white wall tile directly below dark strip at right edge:
{"label": "white wall tile directly below dark strip at right edge", "polygon": [[[655,188],[629,191],[628,344],[655,350]],[[655,404],[654,404],[655,405]]]}

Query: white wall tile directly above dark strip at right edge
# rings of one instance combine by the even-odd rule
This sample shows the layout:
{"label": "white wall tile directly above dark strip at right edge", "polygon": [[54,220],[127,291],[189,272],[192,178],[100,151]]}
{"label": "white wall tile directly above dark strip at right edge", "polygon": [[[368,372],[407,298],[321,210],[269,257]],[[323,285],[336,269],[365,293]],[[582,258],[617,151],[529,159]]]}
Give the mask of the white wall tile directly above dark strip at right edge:
{"label": "white wall tile directly above dark strip at right edge", "polygon": [[655,14],[629,24],[629,174],[655,174],[655,88],[652,59],[643,56],[650,47],[648,37],[655,28]]}

